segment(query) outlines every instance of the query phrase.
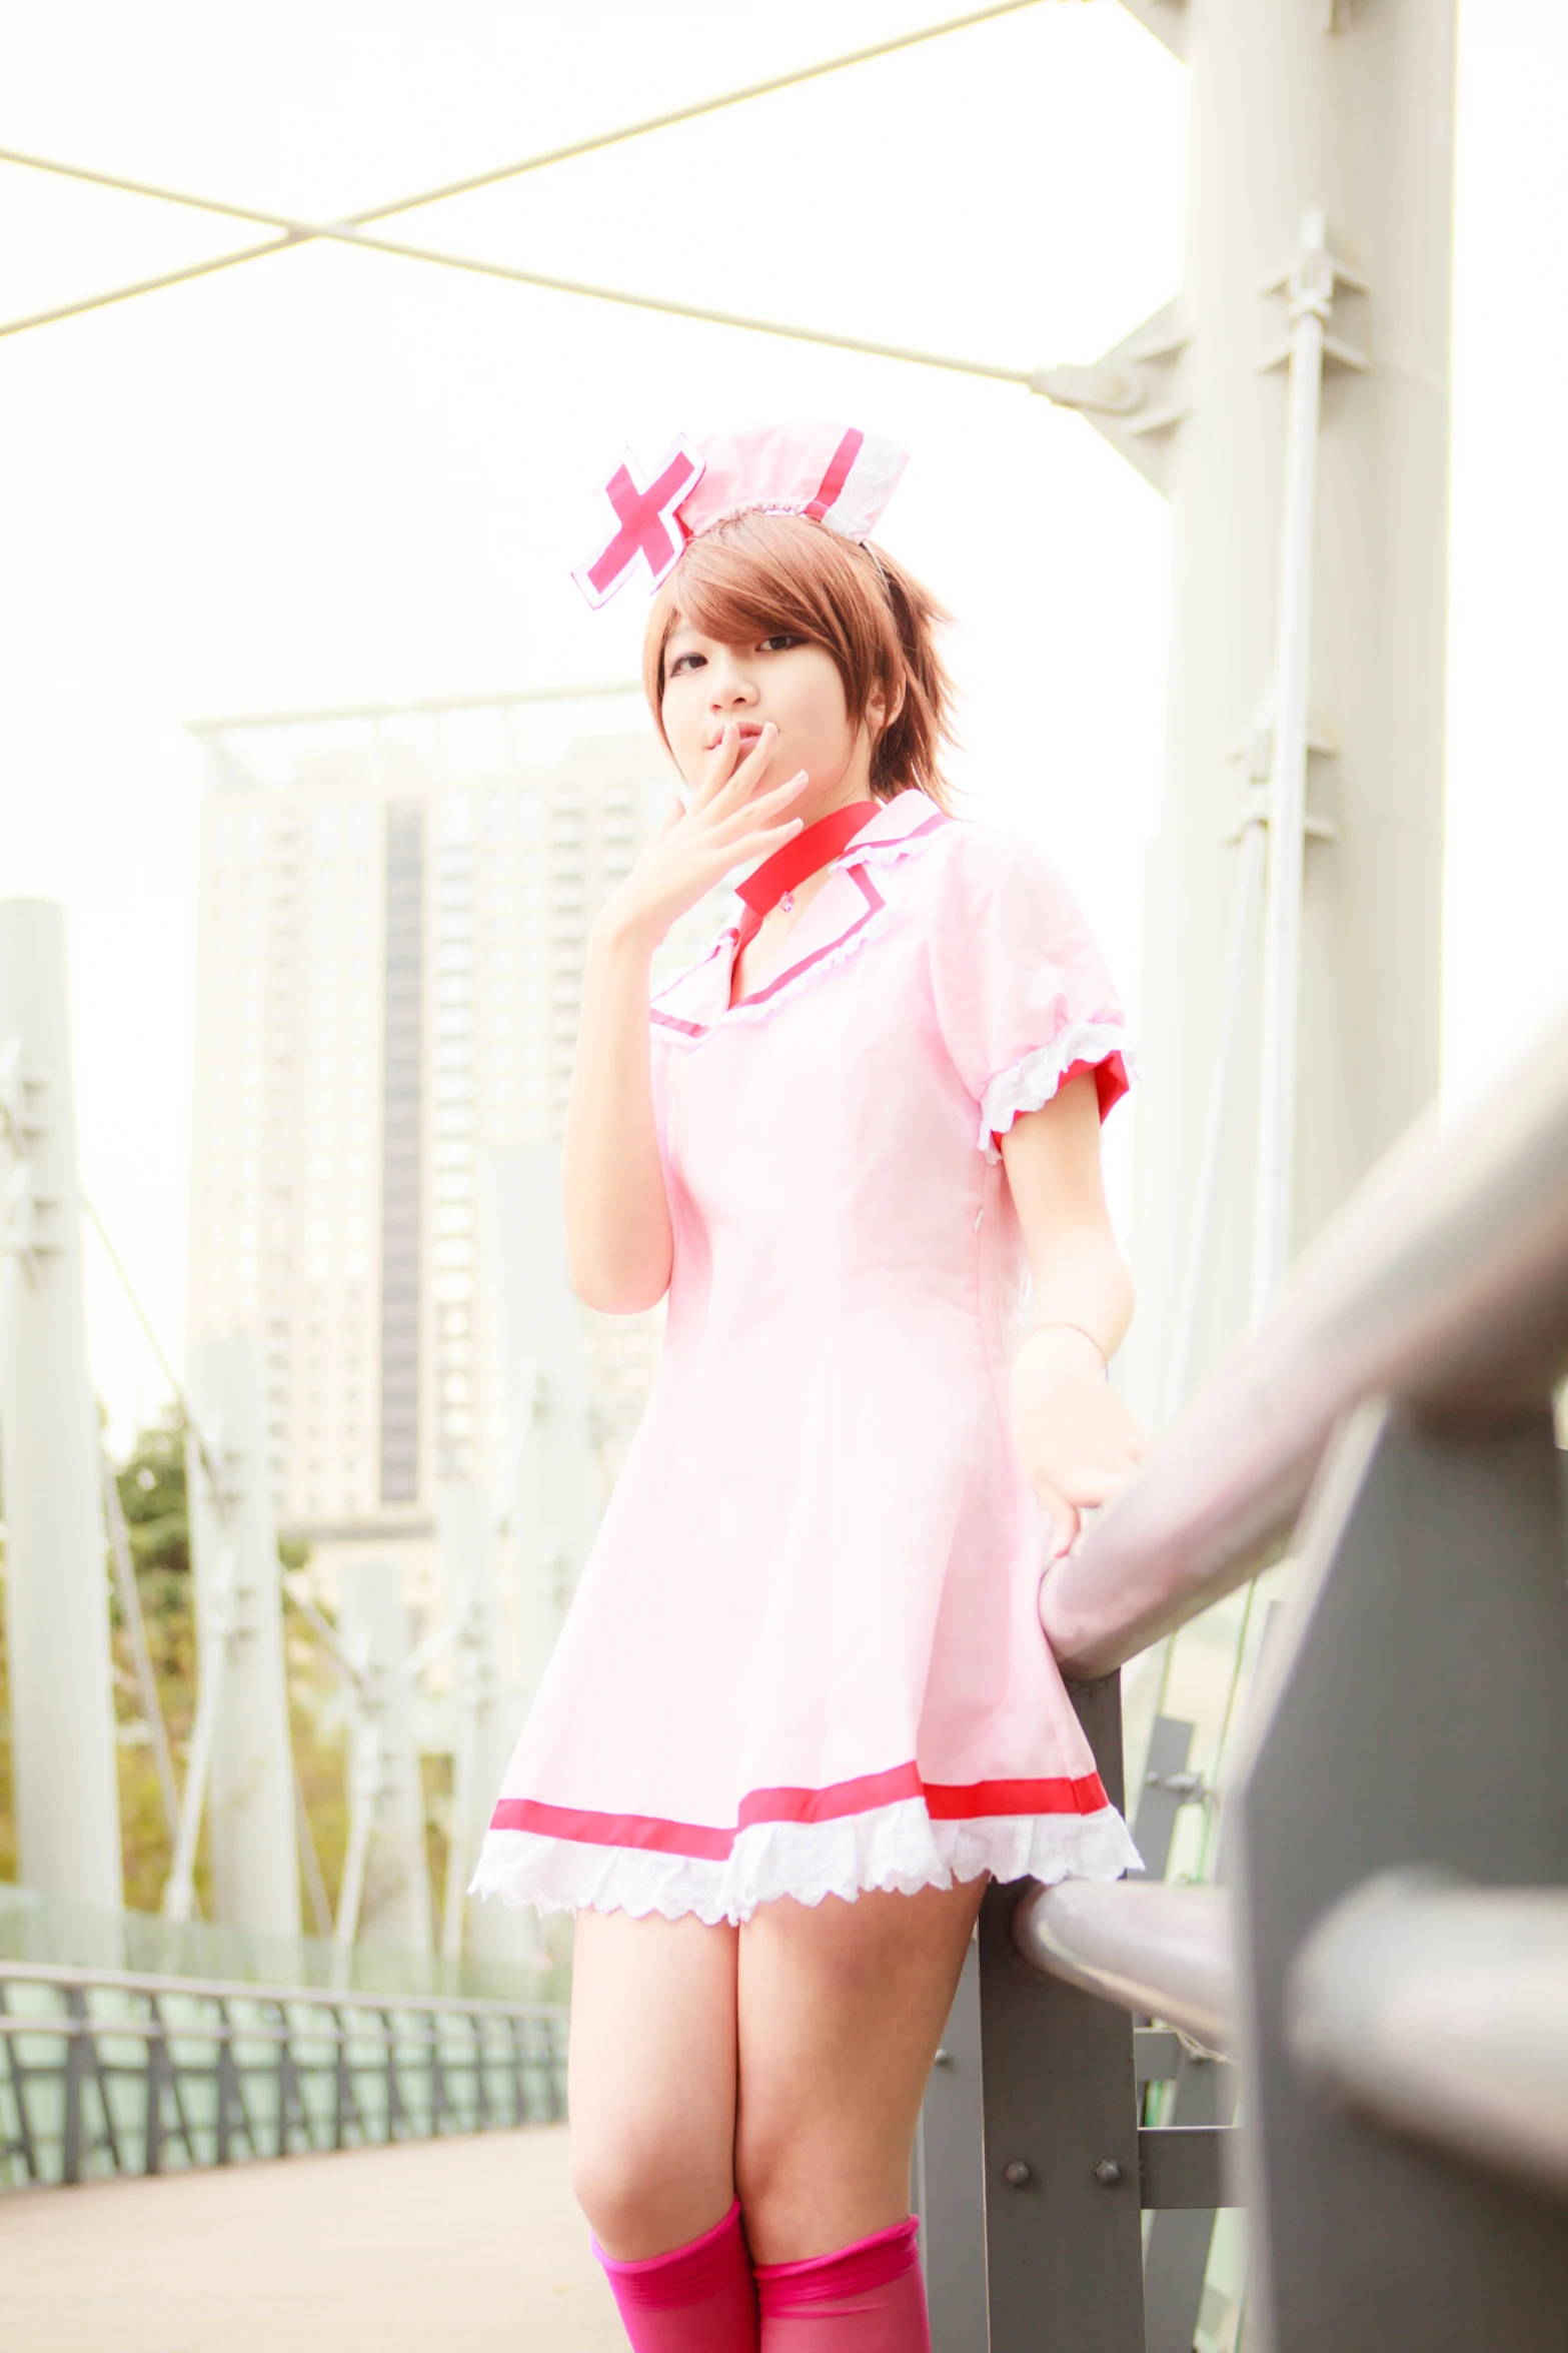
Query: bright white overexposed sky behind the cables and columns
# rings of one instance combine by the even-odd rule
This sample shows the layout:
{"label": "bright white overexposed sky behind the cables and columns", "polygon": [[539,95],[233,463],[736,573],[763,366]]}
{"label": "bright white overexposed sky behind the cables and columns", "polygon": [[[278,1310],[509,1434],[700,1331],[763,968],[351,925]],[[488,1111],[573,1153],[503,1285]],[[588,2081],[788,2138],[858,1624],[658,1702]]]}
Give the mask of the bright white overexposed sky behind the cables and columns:
{"label": "bright white overexposed sky behind the cables and columns", "polygon": [[[959,0],[947,0],[957,7]],[[1305,5],[1305,0],[1302,0]],[[0,0],[0,141],[327,216],[938,16],[943,0]],[[1568,16],[1467,0],[1446,1078],[1568,995]],[[1180,282],[1182,71],[1037,7],[409,219],[411,235],[1016,367]],[[0,318],[242,242],[0,167]],[[1164,511],[1011,386],[306,249],[0,339],[0,892],[66,901],[85,1181],[179,1346],[195,960],[183,720],[630,675],[567,569],[630,445],[853,416],[917,461],[884,536],[959,616],[961,781],[1041,838],[1135,993]],[[160,1379],[101,1275],[118,1431]]]}

